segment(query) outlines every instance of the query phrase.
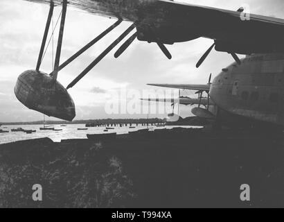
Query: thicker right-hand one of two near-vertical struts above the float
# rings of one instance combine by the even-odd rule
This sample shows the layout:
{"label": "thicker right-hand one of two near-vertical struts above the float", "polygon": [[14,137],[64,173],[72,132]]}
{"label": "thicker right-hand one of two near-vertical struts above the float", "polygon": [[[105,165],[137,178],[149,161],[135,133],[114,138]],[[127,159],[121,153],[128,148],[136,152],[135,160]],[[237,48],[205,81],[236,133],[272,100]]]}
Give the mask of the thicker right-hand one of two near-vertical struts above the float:
{"label": "thicker right-hand one of two near-vertical struts above the float", "polygon": [[63,33],[64,33],[64,24],[65,24],[65,19],[66,19],[66,12],[67,12],[67,4],[68,4],[68,1],[63,0],[60,31],[59,31],[57,50],[56,50],[55,62],[54,62],[53,80],[57,79],[57,74],[59,71],[59,62],[60,62],[60,54],[61,54],[62,40],[63,40]]}

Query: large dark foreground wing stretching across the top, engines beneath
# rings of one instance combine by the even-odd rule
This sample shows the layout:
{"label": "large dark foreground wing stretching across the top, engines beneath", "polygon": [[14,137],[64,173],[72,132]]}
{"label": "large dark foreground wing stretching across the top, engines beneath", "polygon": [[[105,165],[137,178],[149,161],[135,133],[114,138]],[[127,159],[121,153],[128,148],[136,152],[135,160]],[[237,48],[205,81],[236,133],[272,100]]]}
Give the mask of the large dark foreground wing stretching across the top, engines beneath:
{"label": "large dark foreground wing stretching across the top, engines beneath", "polygon": [[141,41],[173,44],[206,37],[216,50],[229,53],[284,51],[284,19],[166,0],[69,0],[69,5],[134,22]]}

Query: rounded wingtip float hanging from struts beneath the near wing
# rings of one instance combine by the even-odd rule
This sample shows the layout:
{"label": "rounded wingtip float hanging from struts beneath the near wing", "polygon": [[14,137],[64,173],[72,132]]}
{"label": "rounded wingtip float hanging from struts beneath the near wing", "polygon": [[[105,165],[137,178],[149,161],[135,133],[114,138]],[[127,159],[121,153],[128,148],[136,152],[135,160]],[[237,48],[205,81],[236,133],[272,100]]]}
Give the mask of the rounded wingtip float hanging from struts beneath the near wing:
{"label": "rounded wingtip float hanging from struts beneath the near wing", "polygon": [[14,92],[27,108],[49,117],[72,121],[76,116],[73,99],[67,90],[42,71],[24,71],[17,80]]}

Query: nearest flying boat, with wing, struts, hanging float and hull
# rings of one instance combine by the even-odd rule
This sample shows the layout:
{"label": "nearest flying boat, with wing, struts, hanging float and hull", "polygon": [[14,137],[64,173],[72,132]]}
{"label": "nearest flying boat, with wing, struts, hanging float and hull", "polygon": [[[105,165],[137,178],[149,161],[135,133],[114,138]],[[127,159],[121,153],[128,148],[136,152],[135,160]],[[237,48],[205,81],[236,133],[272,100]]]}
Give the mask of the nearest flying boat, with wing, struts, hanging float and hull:
{"label": "nearest flying boat, with wing, struts, hanging float and hull", "polygon": [[[229,53],[236,62],[218,75],[211,85],[195,85],[199,93],[207,92],[215,104],[216,117],[220,113],[236,117],[284,125],[284,20],[262,15],[246,14],[239,10],[224,10],[166,0],[26,0],[49,4],[50,10],[35,69],[24,71],[17,80],[17,99],[32,110],[48,116],[71,121],[75,105],[66,89],[76,85],[100,60],[134,34],[114,53],[118,58],[134,40],[154,42],[164,55],[172,55],[166,44],[188,42],[199,37],[213,40],[213,44],[197,62],[202,65],[208,54],[216,51]],[[54,69],[50,74],[40,70],[54,7],[62,7],[60,32]],[[94,37],[68,60],[60,63],[67,6],[94,15],[117,19],[103,33]],[[66,89],[57,81],[57,74],[121,22],[131,25],[103,53],[71,81]],[[237,54],[249,55],[240,60]],[[172,87],[172,86],[170,86]],[[184,86],[180,86],[181,89]],[[191,87],[189,87],[191,89]],[[200,111],[200,110],[199,110]],[[223,117],[224,115],[222,115]]]}

